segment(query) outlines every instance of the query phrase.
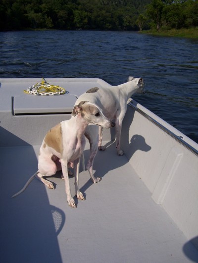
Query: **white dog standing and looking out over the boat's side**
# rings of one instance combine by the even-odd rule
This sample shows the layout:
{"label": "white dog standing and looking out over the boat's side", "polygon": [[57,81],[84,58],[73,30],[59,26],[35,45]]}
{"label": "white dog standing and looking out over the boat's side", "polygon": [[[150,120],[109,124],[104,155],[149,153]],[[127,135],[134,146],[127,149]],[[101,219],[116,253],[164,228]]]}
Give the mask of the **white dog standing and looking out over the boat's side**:
{"label": "white dog standing and looking out over the boat's side", "polygon": [[[120,136],[122,121],[127,110],[127,101],[134,93],[145,93],[145,85],[143,78],[129,77],[128,82],[111,87],[92,88],[83,93],[76,101],[78,105],[80,101],[88,101],[98,105],[103,114],[110,120],[115,120],[116,129],[116,149],[118,155],[123,155],[124,151],[120,148]],[[75,107],[72,113],[75,112]],[[89,125],[86,129],[85,136],[90,142],[91,155],[87,164],[87,169],[94,183],[101,179],[95,178],[93,175],[93,163],[97,154],[97,150],[104,151],[102,146],[102,127],[99,127],[99,132],[96,126]]]}

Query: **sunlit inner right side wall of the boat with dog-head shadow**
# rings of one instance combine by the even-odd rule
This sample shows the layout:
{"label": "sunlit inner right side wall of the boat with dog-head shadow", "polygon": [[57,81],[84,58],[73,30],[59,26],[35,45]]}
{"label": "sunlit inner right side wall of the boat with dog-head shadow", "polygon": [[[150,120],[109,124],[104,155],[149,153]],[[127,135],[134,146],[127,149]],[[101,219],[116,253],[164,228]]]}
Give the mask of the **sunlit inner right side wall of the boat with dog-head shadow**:
{"label": "sunlit inner right side wall of the boat with dog-head shadow", "polygon": [[153,200],[187,238],[198,236],[198,156],[130,106],[121,146]]}

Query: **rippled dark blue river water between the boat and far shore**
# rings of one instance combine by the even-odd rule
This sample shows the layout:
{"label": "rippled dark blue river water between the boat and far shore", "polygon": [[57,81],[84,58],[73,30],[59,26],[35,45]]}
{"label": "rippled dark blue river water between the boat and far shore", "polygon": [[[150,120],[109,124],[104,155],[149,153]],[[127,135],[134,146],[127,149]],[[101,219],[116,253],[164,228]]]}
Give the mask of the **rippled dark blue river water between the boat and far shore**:
{"label": "rippled dark blue river water between the boat and far shore", "polygon": [[198,40],[136,32],[0,32],[0,78],[143,77],[134,99],[198,142]]}

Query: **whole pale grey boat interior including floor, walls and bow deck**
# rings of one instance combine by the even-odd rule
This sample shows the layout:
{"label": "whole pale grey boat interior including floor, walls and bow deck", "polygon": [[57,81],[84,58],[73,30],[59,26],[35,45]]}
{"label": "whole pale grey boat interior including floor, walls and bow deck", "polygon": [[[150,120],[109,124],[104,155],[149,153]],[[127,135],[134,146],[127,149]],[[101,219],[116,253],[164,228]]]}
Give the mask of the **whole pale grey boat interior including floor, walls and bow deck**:
{"label": "whole pale grey boat interior including floor, walls and bow deck", "polygon": [[[136,102],[123,121],[125,155],[104,129],[108,147],[94,162],[102,180],[93,184],[81,167],[86,200],[75,199],[76,209],[60,173],[49,178],[55,190],[34,179],[11,199],[37,171],[46,132],[70,118],[75,94],[109,85],[49,79],[69,96],[25,97],[38,81],[0,79],[0,263],[198,263],[198,144]],[[74,196],[74,178],[70,186]]]}

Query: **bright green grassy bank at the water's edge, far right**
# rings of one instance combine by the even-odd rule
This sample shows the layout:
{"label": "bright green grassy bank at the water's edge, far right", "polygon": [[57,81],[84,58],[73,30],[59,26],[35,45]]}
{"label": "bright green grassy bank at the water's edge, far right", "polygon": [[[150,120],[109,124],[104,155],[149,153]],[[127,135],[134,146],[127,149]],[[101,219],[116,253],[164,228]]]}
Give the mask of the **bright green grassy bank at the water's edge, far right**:
{"label": "bright green grassy bank at the water's edge, far right", "polygon": [[198,38],[198,27],[189,28],[189,29],[183,28],[183,29],[171,29],[171,30],[161,29],[160,31],[143,30],[142,33],[162,36],[162,37]]}

